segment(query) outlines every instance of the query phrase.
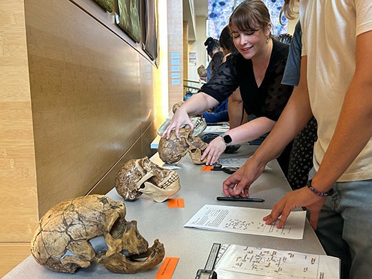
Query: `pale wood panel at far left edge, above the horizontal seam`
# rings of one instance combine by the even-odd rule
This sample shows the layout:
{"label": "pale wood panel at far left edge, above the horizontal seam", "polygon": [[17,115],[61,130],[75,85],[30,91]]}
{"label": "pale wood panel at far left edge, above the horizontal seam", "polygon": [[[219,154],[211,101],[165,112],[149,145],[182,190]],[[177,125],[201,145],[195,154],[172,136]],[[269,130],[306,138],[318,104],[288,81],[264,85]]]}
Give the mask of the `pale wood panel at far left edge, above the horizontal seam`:
{"label": "pale wood panel at far left edge, above the horizontal seam", "polygon": [[0,226],[0,245],[2,245],[14,241],[29,241],[38,220],[22,0],[6,0],[0,5],[0,73],[0,222],[3,224]]}

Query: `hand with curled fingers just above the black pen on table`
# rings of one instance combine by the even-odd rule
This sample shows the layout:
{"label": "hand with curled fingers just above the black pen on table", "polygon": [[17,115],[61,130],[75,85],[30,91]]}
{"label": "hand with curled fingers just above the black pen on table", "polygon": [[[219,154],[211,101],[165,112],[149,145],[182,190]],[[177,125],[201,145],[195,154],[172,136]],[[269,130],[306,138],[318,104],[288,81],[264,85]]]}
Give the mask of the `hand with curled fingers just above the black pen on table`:
{"label": "hand with curled fingers just above the black pen on table", "polygon": [[245,164],[223,181],[223,192],[228,196],[249,197],[249,187],[265,170],[265,164],[258,164],[249,157]]}

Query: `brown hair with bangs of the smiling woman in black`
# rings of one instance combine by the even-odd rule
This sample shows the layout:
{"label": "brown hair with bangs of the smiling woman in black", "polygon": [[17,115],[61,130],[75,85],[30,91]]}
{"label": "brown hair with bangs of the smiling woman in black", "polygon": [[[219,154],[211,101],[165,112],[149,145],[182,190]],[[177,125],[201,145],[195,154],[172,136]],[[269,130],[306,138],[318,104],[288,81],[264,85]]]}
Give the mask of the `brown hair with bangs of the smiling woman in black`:
{"label": "brown hair with bangs of the smiling woman in black", "polygon": [[271,23],[269,10],[261,0],[242,1],[232,12],[229,28],[236,27],[241,32],[266,30]]}

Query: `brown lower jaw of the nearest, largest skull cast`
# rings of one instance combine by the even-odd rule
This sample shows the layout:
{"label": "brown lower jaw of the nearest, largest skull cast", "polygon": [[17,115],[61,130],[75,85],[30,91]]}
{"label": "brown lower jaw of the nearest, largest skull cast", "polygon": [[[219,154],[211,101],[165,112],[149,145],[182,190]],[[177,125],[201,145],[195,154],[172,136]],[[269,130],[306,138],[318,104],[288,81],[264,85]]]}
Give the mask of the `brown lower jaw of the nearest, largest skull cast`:
{"label": "brown lower jaw of the nearest, largest skull cast", "polygon": [[[133,258],[143,258],[149,255],[143,262],[132,262],[121,253],[115,253],[110,257],[103,257],[98,260],[107,270],[117,274],[136,274],[145,269],[155,267],[163,260],[165,256],[165,249],[163,243],[158,239],[154,241],[154,245],[147,249],[142,255]],[[130,258],[130,257],[129,257]]]}

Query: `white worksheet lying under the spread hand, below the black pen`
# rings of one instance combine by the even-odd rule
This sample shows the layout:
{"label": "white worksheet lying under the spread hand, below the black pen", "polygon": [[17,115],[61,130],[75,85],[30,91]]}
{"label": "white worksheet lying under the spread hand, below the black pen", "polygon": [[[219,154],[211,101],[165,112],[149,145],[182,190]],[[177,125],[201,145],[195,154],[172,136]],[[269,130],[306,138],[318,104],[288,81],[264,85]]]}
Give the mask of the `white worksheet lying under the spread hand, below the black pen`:
{"label": "white worksheet lying under the spread hand, below the black pen", "polygon": [[270,212],[271,210],[258,208],[204,205],[184,227],[302,239],[306,218],[305,211],[291,212],[285,225],[280,229],[276,227],[279,223],[278,220],[271,225],[266,225],[265,221],[262,221],[262,218],[269,215]]}

